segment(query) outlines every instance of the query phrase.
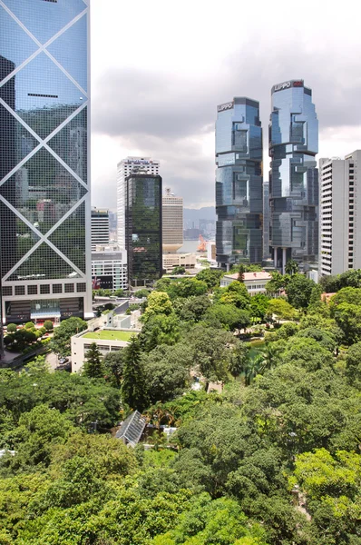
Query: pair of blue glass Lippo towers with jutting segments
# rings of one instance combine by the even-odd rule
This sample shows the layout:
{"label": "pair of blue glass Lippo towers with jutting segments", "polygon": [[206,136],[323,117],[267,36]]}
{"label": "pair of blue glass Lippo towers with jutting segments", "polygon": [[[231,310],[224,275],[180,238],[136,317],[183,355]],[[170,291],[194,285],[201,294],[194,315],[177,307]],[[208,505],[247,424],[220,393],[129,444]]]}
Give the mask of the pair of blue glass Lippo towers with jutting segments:
{"label": "pair of blue glass Lippo towers with jutting segments", "polygon": [[[274,85],[269,120],[268,183],[263,183],[259,102],[235,97],[216,122],[217,261],[261,263],[271,254],[284,272],[318,254],[318,122],[303,80]],[[264,238],[264,240],[263,240]],[[269,243],[268,243],[269,241]]]}

